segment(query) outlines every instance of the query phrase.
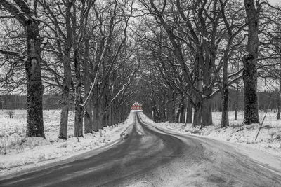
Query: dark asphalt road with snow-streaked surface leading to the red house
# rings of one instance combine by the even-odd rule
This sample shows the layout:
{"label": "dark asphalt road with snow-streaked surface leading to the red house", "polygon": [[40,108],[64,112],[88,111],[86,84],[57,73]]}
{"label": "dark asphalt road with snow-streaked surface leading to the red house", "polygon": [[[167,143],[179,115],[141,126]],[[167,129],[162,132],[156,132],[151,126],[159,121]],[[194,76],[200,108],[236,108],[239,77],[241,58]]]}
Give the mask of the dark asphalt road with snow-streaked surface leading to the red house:
{"label": "dark asphalt road with snow-streaked surface leading to the red house", "polygon": [[0,179],[0,186],[281,186],[281,171],[221,141],[176,134],[136,113],[129,137]]}

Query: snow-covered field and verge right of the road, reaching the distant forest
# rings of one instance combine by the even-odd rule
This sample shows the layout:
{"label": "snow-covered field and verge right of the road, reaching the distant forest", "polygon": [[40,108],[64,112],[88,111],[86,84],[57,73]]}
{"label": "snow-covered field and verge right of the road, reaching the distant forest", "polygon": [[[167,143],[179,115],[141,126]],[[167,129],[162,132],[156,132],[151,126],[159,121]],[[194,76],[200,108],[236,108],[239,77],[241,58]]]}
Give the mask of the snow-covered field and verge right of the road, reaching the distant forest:
{"label": "snow-covered field and verge right of the road, reaching the distant forest", "polygon": [[[192,124],[185,123],[154,123],[159,127],[169,130],[181,132],[183,134],[197,134],[213,139],[230,141],[233,143],[244,144],[259,150],[266,150],[275,155],[281,155],[281,120],[277,120],[277,113],[268,112],[267,116],[256,139],[259,131],[259,124],[243,125],[243,111],[237,113],[237,120],[234,120],[234,111],[229,112],[230,127],[221,128],[221,113],[213,113],[213,126],[204,127],[200,130],[200,126],[192,127]],[[265,116],[264,112],[259,112],[260,122]],[[148,123],[153,123],[147,116],[143,115]]]}

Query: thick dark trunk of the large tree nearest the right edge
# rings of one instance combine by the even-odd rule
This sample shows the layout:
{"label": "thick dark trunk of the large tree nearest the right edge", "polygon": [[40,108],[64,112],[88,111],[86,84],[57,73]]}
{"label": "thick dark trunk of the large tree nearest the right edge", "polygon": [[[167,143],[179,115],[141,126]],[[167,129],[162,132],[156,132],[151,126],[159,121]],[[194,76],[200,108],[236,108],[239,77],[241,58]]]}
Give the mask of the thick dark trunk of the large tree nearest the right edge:
{"label": "thick dark trunk of the large tree nearest the right edge", "polygon": [[259,12],[254,0],[244,0],[248,21],[247,53],[242,58],[244,64],[244,121],[243,124],[259,123],[256,62],[259,50]]}

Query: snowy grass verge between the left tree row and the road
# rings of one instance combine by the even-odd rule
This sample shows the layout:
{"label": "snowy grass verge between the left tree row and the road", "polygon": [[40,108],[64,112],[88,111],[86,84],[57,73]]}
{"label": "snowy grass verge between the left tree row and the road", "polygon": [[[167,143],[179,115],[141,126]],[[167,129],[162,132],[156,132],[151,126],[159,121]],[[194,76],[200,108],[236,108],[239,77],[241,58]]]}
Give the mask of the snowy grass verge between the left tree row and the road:
{"label": "snowy grass verge between the left tree row and the road", "polygon": [[[5,174],[10,169],[19,170],[25,165],[35,166],[39,162],[46,160],[63,160],[74,155],[90,151],[100,146],[109,144],[120,138],[120,134],[133,123],[133,113],[129,115],[124,123],[113,127],[105,127],[101,132],[94,134],[84,134],[83,138],[70,137],[67,141],[50,141],[48,137],[43,138],[24,138],[21,144],[15,149],[11,144],[8,146],[11,150],[6,154],[0,154],[0,175]],[[57,130],[57,128],[55,128]],[[13,141],[13,137],[5,137],[6,141]],[[1,150],[1,152],[3,152]],[[49,163],[49,162],[48,162]],[[30,167],[30,166],[29,166]]]}

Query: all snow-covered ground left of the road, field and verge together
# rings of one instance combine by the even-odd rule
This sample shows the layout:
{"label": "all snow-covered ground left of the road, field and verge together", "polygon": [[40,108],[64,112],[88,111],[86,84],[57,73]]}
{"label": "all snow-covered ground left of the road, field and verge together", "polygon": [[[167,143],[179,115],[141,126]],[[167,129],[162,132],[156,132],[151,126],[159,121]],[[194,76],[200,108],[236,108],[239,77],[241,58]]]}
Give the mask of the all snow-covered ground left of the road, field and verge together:
{"label": "all snow-covered ground left of the road, field and verge together", "polygon": [[[0,111],[0,174],[13,167],[37,165],[39,162],[55,158],[69,158],[84,151],[108,144],[120,138],[120,134],[133,123],[133,115],[113,127],[105,127],[94,134],[84,134],[84,138],[73,137],[74,114],[70,112],[67,141],[58,141],[60,111],[44,111],[44,131],[46,139],[25,138],[26,111]],[[19,168],[20,169],[20,168]]]}

